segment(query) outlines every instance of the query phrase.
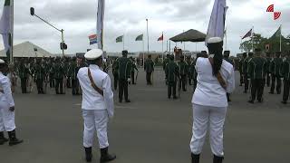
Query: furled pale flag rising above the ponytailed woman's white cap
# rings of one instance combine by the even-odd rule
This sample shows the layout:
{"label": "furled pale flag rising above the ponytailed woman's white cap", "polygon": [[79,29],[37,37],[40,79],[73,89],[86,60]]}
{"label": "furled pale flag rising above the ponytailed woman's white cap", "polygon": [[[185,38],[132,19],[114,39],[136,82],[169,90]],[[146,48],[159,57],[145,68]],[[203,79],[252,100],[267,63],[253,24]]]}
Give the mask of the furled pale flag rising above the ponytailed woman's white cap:
{"label": "furled pale flag rising above the ponytailed woman's white cap", "polygon": [[226,0],[215,0],[208,24],[206,43],[211,37],[224,38],[227,8]]}

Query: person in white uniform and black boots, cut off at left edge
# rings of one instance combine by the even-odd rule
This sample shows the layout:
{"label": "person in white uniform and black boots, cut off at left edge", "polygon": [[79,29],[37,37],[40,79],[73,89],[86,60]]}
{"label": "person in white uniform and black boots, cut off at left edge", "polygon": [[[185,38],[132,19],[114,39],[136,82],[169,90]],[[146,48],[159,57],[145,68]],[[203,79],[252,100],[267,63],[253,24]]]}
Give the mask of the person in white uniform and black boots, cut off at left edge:
{"label": "person in white uniform and black boots, cut off at left edge", "polygon": [[8,141],[4,136],[4,131],[7,131],[9,145],[14,146],[24,142],[24,140],[16,138],[14,99],[11,92],[11,82],[4,75],[6,72],[7,65],[0,59],[0,145]]}

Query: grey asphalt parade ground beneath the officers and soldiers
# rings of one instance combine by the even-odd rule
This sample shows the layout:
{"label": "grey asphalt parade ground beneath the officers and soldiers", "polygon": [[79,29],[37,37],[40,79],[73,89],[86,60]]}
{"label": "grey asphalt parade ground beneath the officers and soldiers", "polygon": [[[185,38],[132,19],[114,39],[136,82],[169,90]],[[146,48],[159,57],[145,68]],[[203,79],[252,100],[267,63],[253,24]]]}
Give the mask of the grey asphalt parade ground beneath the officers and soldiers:
{"label": "grey asphalt parade ground beneath the officers and soldiers", "polygon": [[[264,103],[247,103],[236,73],[237,89],[227,111],[225,125],[226,163],[289,163],[290,105],[282,95],[268,94]],[[111,82],[113,80],[111,79]],[[130,85],[131,103],[119,103],[115,95],[115,117],[109,128],[114,163],[189,163],[192,87],[179,100],[167,98],[164,73],[154,72],[153,86],[147,86],[140,69],[137,85]],[[83,163],[82,96],[37,93],[14,94],[17,136],[24,143],[0,146],[2,163]],[[92,162],[99,162],[95,139]],[[212,161],[208,139],[201,163]]]}

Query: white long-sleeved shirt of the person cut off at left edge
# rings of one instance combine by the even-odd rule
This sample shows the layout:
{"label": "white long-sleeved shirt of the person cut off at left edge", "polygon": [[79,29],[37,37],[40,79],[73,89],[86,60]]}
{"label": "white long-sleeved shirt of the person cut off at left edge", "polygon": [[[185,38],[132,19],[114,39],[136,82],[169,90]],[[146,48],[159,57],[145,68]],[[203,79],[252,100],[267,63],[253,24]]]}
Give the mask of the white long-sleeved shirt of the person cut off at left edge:
{"label": "white long-sleeved shirt of the person cut off at left edge", "polygon": [[14,107],[10,80],[2,72],[0,72],[0,90],[4,91],[0,92],[0,101],[5,101],[9,107]]}

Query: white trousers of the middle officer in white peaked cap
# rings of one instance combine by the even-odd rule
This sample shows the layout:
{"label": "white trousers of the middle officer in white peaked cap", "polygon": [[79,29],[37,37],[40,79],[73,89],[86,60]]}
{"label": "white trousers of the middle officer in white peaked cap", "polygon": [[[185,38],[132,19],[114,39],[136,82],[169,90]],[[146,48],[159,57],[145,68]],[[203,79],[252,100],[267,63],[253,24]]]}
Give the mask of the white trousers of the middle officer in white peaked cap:
{"label": "white trousers of the middle officer in white peaked cap", "polygon": [[91,148],[95,130],[99,140],[100,149],[109,147],[107,127],[109,116],[107,110],[82,110],[84,120],[83,147]]}

